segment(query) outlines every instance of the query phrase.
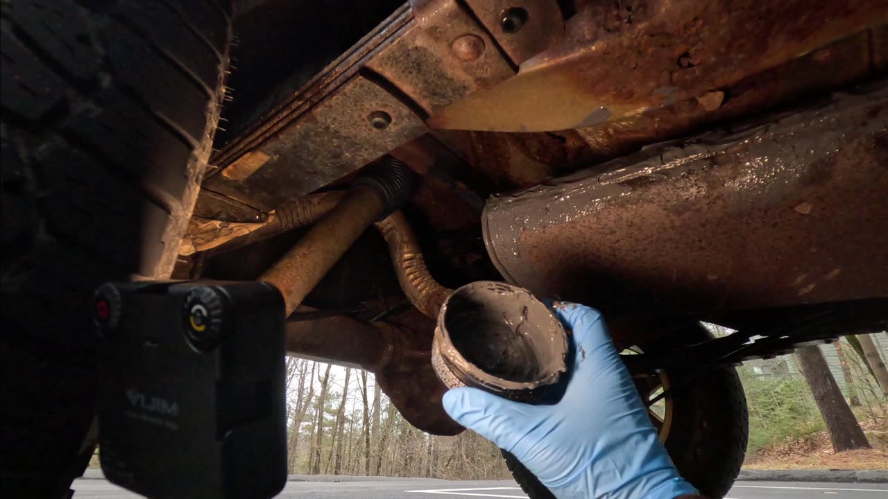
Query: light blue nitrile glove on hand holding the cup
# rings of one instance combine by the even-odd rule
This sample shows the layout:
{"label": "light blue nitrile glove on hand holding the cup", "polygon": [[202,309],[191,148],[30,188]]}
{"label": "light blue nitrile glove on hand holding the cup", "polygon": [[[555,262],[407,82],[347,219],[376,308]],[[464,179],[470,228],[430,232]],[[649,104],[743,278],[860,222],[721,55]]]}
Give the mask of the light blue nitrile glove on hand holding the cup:
{"label": "light blue nitrile glove on hand holding the cup", "polygon": [[558,404],[532,406],[476,388],[444,395],[450,417],[511,452],[559,499],[698,494],[678,476],[598,311],[560,303],[574,372]]}

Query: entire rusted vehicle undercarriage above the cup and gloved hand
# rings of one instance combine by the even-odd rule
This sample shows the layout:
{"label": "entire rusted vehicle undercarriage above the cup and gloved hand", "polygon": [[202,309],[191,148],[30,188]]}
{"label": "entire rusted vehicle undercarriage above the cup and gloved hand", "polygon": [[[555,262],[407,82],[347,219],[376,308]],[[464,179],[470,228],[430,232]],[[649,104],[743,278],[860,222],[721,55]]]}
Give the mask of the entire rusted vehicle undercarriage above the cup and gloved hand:
{"label": "entire rusted vehicle undercarriage above the cup and gloved hand", "polygon": [[[259,4],[250,26],[280,12]],[[438,433],[459,429],[431,317],[469,281],[599,306],[626,345],[886,297],[886,24],[863,0],[413,0],[317,75],[232,107],[178,276],[292,289],[292,352],[373,370]],[[419,180],[377,220],[354,183],[386,154]],[[374,221],[383,237],[361,235]]]}

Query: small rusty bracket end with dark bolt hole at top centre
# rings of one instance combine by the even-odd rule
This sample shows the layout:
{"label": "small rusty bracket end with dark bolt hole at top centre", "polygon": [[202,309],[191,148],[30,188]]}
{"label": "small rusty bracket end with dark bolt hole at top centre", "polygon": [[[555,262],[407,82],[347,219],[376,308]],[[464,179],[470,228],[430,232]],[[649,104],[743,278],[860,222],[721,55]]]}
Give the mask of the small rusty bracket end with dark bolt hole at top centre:
{"label": "small rusty bracket end with dark bolt hole at top centre", "polygon": [[466,4],[515,66],[564,37],[564,19],[556,2],[466,0]]}

